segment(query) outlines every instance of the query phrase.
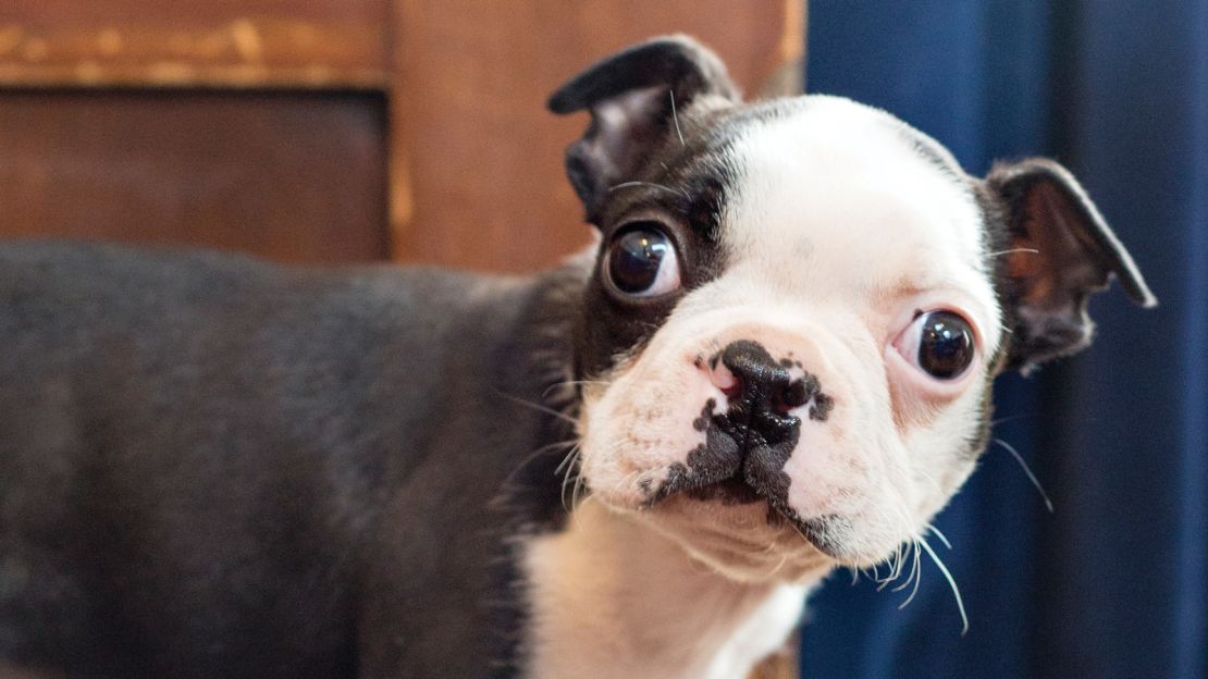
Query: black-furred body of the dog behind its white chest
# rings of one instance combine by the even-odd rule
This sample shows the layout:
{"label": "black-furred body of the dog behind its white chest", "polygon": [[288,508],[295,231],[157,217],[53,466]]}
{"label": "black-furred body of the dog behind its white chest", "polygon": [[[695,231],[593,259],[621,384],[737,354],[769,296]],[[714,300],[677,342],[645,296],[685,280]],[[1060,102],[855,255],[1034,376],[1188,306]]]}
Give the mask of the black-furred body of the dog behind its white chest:
{"label": "black-furred body of the dog behind its white chest", "polygon": [[[391,267],[0,248],[0,656],[126,677],[335,677],[373,662],[366,643],[447,662],[423,656],[480,615],[465,582],[494,586],[501,518],[477,494],[536,424],[431,385],[533,397],[498,340],[530,297]],[[492,449],[474,445],[486,402],[509,420]],[[461,596],[436,607],[445,579]]]}

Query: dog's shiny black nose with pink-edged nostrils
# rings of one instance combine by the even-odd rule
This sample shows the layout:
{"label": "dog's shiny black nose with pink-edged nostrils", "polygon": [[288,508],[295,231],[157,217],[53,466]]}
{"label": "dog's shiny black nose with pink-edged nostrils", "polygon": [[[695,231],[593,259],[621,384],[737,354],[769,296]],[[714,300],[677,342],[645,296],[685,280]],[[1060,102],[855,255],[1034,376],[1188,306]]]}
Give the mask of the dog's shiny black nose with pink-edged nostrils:
{"label": "dog's shiny black nose with pink-edged nostrils", "polygon": [[788,367],[750,340],[730,343],[721,352],[721,362],[738,379],[730,400],[731,418],[744,420],[767,443],[790,435],[800,420],[788,417],[789,411],[806,405],[817,387],[794,379]]}

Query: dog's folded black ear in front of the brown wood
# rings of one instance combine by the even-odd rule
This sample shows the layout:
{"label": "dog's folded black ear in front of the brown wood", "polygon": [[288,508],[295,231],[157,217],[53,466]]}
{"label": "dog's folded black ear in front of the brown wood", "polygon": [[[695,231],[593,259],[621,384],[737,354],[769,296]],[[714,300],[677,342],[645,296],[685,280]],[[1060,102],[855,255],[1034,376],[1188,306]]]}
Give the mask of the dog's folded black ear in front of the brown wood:
{"label": "dog's folded black ear in front of the brown wood", "polygon": [[588,109],[583,138],[567,149],[567,174],[597,224],[609,188],[634,179],[651,149],[702,95],[737,101],[738,89],[716,54],[695,40],[656,37],[591,65],[547,103],[563,115]]}

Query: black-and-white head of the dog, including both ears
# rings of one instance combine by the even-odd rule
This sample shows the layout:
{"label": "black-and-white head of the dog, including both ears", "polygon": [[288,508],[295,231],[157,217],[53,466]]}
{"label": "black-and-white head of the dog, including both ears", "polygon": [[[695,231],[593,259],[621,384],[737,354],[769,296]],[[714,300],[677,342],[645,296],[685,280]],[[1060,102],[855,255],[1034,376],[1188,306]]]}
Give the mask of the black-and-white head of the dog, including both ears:
{"label": "black-and-white head of the dog, including both ears", "polygon": [[737,579],[884,559],[972,470],[995,375],[1085,347],[1113,275],[1154,303],[1061,166],[977,179],[879,110],[743,103],[685,37],[550,108],[591,112],[567,169],[602,236],[581,477]]}

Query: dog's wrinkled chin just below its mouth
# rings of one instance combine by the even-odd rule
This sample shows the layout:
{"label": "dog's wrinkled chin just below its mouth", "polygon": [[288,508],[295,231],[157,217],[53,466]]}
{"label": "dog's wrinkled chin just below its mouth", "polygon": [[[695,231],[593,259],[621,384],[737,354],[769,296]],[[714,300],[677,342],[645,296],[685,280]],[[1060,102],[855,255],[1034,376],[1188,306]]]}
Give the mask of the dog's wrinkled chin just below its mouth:
{"label": "dog's wrinkled chin just below its mouth", "polygon": [[836,563],[766,500],[737,486],[676,493],[637,515],[734,581],[806,582]]}

